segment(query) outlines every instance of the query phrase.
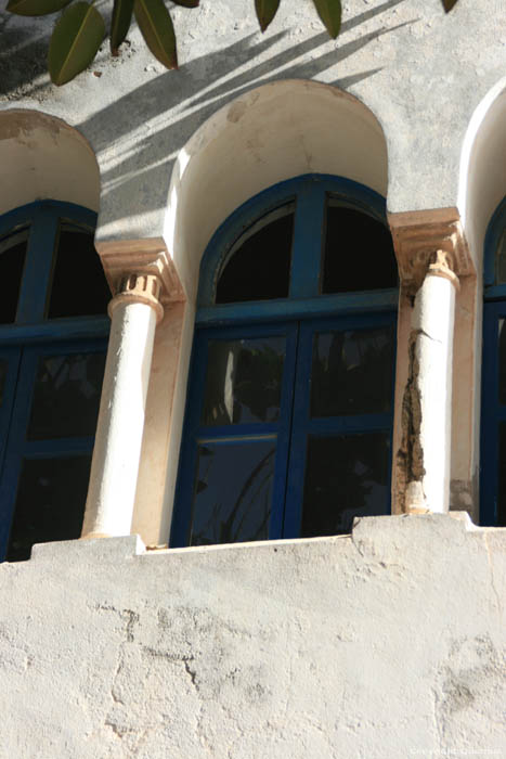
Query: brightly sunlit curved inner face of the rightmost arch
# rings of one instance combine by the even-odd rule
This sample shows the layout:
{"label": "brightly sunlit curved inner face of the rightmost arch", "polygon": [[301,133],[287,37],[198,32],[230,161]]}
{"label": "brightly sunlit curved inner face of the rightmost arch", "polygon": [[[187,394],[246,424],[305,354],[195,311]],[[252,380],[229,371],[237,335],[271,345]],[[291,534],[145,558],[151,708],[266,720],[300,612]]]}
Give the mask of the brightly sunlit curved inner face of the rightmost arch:
{"label": "brightly sunlit curved inner face of the rightmost arch", "polygon": [[482,270],[486,227],[505,194],[506,77],[475,111],[460,159],[457,205],[477,271]]}

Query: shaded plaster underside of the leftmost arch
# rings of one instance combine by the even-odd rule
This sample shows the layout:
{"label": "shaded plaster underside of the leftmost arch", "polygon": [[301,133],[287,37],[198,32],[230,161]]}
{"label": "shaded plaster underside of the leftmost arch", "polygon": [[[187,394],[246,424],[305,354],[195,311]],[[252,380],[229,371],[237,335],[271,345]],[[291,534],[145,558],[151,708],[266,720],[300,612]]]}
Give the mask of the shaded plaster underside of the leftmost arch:
{"label": "shaded plaster underside of the leftmost arch", "polygon": [[0,215],[52,198],[99,209],[100,173],[85,138],[38,111],[0,113]]}

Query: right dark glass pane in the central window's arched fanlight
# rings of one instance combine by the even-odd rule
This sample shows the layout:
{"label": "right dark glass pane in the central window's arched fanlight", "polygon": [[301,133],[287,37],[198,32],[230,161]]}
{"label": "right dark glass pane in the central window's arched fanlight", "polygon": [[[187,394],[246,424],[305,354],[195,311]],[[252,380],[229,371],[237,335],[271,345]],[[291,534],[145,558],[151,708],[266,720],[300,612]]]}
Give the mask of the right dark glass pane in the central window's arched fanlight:
{"label": "right dark glass pane in the central window's arched fanlight", "polygon": [[329,198],[323,293],[352,293],[398,286],[390,231],[377,219]]}

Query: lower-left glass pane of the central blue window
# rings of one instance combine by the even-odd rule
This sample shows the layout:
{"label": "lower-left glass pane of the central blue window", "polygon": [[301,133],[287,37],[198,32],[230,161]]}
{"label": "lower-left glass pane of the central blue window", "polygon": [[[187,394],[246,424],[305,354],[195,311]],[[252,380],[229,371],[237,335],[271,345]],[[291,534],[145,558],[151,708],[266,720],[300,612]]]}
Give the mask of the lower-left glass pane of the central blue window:
{"label": "lower-left glass pane of the central blue window", "polygon": [[267,540],[275,441],[198,447],[190,545]]}

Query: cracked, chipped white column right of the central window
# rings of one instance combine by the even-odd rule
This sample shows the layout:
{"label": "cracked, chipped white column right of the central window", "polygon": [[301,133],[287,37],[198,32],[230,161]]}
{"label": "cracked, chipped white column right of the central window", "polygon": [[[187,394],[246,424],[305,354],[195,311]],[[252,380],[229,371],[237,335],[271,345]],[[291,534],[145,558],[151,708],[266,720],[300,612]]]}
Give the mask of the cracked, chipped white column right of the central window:
{"label": "cracked, chipped white column right of the central window", "polygon": [[[407,484],[412,513],[446,513],[450,501],[452,362],[455,291],[458,279],[443,250],[431,257],[415,297],[412,346],[416,396],[417,455],[421,479]],[[413,411],[412,411],[413,413]]]}

